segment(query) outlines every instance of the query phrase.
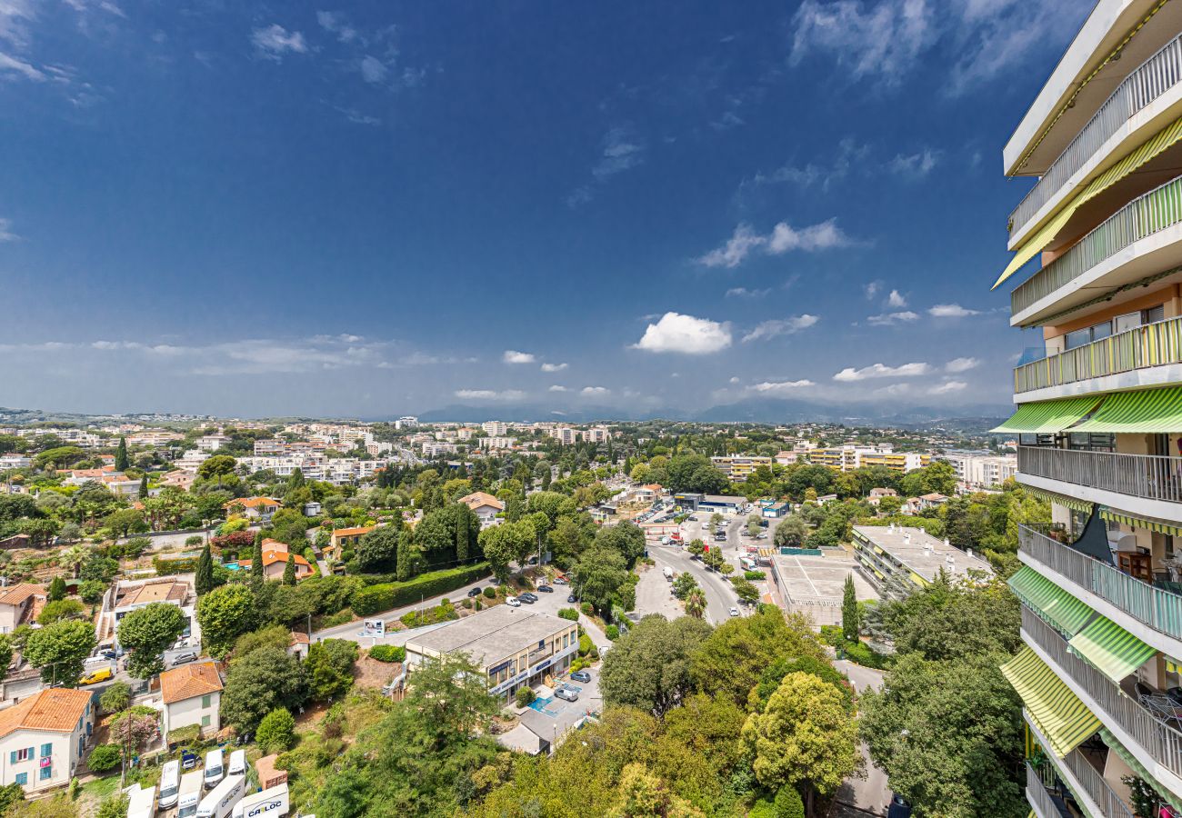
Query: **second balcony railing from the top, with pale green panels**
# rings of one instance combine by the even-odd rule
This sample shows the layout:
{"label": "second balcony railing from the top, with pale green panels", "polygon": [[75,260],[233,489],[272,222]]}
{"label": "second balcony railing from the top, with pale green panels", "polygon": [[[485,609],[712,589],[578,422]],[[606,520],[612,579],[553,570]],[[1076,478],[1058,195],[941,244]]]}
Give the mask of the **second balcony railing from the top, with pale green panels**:
{"label": "second balcony railing from the top, with pale green panels", "polygon": [[1135,241],[1178,222],[1182,222],[1182,176],[1134,199],[1034,273],[1011,293],[1011,312],[1018,314]]}

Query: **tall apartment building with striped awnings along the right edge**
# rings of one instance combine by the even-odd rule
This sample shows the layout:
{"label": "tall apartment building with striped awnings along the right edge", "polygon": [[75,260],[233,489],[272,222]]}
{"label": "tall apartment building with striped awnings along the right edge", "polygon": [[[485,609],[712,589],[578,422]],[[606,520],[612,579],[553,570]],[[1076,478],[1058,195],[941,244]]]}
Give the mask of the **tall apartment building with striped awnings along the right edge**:
{"label": "tall apartment building with striped awnings along the right edge", "polygon": [[[1017,111],[1015,111],[1017,112]],[[1025,708],[1039,818],[1182,814],[1182,4],[1098,0],[1002,152]],[[1017,333],[1015,333],[1017,344]],[[1142,814],[1142,813],[1138,813]]]}

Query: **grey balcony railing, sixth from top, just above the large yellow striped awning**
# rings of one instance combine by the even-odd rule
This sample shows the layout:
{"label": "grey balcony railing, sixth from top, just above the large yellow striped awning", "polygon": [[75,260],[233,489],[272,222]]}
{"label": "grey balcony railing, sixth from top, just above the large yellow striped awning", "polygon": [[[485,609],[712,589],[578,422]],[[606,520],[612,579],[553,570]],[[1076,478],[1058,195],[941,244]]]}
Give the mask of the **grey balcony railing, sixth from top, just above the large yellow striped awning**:
{"label": "grey balcony railing, sixth from top, just above the large yellow striped awning", "polygon": [[1182,733],[1162,723],[1108,676],[1071,653],[1059,632],[1026,606],[1022,606],[1022,631],[1050,656],[1060,675],[1065,674],[1096,703],[1100,721],[1119,727],[1157,764],[1182,774]]}

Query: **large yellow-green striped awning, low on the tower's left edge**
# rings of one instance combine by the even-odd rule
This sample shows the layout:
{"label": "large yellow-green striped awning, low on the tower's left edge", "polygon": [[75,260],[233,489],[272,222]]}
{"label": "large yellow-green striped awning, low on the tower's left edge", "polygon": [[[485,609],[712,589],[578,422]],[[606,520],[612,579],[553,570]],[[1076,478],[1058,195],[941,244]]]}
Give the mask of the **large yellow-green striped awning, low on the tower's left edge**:
{"label": "large yellow-green striped awning, low on the tower's left edge", "polygon": [[1031,648],[1001,666],[1039,732],[1060,759],[1099,729],[1100,720]]}

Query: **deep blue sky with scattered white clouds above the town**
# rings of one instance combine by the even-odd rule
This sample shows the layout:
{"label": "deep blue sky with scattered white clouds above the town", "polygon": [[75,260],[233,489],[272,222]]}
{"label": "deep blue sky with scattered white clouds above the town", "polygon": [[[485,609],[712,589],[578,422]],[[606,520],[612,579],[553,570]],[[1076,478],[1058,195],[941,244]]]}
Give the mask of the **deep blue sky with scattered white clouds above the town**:
{"label": "deep blue sky with scattered white clouds above the town", "polygon": [[0,0],[0,405],[1007,403],[1085,13]]}

